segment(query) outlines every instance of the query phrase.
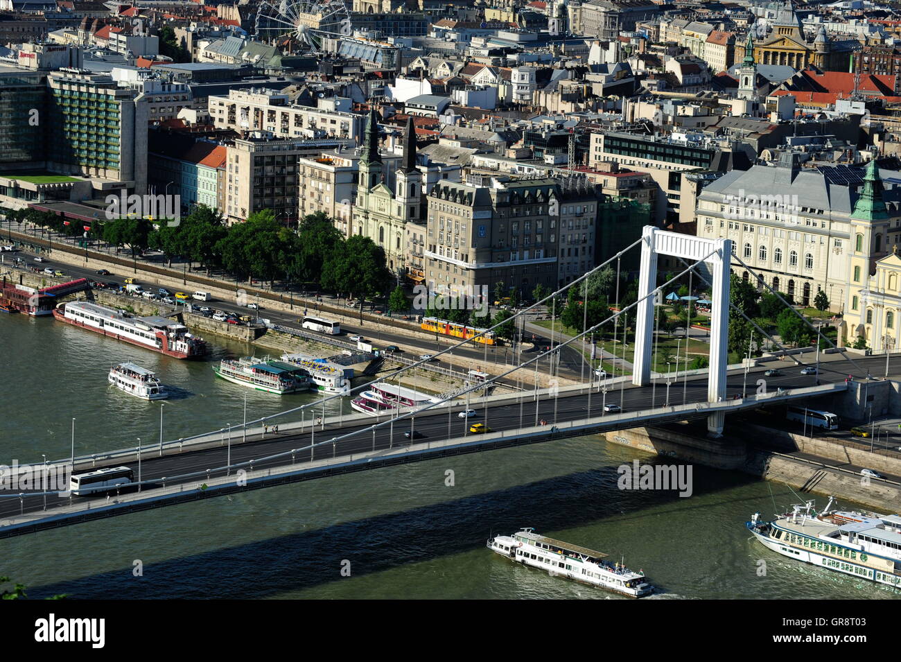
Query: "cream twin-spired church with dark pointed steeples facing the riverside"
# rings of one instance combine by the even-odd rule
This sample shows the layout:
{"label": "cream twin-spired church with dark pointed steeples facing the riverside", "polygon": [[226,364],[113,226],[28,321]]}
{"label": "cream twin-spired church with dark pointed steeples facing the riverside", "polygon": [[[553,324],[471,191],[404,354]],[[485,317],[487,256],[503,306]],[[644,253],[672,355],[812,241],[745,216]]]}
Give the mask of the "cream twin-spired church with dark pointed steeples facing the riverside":
{"label": "cream twin-spired church with dark pointed steeples facing the riverside", "polygon": [[354,203],[352,230],[363,234],[385,249],[387,267],[393,274],[405,271],[405,225],[423,222],[420,201],[423,174],[416,168],[416,137],[413,119],[406,123],[404,158],[395,174],[395,190],[385,183],[385,164],[378,153],[376,111],[369,111],[369,122],[359,159],[357,199]]}

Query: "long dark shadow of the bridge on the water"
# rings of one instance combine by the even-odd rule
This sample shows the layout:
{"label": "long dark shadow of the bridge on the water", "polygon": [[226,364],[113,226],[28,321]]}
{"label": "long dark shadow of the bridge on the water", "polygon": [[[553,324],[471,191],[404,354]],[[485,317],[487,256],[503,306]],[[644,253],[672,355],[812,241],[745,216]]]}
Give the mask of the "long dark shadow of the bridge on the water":
{"label": "long dark shadow of the bridge on the water", "polygon": [[[667,464],[668,458],[642,458]],[[756,482],[752,476],[694,466],[694,496]],[[343,559],[353,576],[375,574],[410,563],[483,548],[494,532],[523,526],[540,533],[595,524],[612,516],[649,529],[658,517],[709,509],[709,500],[680,498],[676,491],[621,491],[616,467],[556,476],[458,500],[350,521],[315,531],[298,531],[196,555],[76,580],[32,587],[32,598],[68,594],[73,599],[260,598],[339,581]],[[638,497],[634,497],[638,495]],[[721,503],[750,503],[740,498]],[[661,505],[668,507],[659,509]],[[644,511],[658,508],[652,515]],[[751,512],[748,507],[736,511]],[[140,517],[141,515],[136,515]],[[286,515],[289,516],[289,515]],[[651,520],[652,518],[652,520]],[[96,525],[95,525],[96,526]],[[585,540],[571,540],[587,544]],[[486,550],[486,553],[489,553]]]}

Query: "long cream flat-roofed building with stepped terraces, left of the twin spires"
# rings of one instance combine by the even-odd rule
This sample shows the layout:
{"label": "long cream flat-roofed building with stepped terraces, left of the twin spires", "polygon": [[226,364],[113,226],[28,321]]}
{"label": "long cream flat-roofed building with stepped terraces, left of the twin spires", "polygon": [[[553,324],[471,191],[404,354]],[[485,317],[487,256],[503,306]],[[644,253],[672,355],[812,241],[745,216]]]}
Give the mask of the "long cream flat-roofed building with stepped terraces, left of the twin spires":
{"label": "long cream flat-roofed building with stepped terraces, left of the twin spires", "polygon": [[268,89],[229,90],[210,95],[210,116],[217,129],[268,131],[277,138],[347,138],[359,141],[363,117],[350,112],[350,99],[329,97],[317,107],[290,105],[288,95]]}

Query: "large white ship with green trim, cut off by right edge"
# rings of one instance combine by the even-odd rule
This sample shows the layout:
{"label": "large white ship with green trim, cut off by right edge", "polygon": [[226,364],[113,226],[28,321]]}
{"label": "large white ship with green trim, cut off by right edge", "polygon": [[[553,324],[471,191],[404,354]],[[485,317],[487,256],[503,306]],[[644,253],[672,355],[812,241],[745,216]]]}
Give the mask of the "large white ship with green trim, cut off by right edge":
{"label": "large white ship with green trim, cut off by right edge", "polygon": [[833,511],[833,501],[830,496],[822,513],[813,501],[796,503],[773,521],[761,521],[755,512],[745,526],[784,557],[901,587],[901,517]]}

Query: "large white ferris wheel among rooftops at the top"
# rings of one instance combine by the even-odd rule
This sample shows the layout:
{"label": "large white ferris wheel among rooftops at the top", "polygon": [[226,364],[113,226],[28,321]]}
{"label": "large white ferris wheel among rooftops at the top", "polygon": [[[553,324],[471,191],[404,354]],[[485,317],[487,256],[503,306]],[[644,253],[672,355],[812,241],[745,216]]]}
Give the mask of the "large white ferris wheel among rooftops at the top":
{"label": "large white ferris wheel among rooftops at the top", "polygon": [[257,11],[256,37],[268,43],[287,38],[322,53],[326,38],[352,32],[342,0],[262,0]]}

